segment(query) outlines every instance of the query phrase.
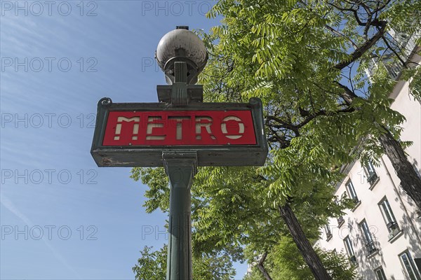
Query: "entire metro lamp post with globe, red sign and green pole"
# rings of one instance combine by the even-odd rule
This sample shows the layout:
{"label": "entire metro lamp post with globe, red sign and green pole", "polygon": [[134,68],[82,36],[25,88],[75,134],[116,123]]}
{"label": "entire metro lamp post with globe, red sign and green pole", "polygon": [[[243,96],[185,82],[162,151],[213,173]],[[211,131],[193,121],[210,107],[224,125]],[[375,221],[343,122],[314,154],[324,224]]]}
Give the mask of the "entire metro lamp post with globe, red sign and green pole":
{"label": "entire metro lamp post with globe, red sign and green pole", "polygon": [[167,280],[192,280],[190,187],[197,166],[263,165],[267,141],[262,102],[203,102],[195,85],[208,60],[188,27],[161,38],[156,60],[169,85],[159,103],[100,99],[91,146],[98,167],[165,167],[170,189]]}

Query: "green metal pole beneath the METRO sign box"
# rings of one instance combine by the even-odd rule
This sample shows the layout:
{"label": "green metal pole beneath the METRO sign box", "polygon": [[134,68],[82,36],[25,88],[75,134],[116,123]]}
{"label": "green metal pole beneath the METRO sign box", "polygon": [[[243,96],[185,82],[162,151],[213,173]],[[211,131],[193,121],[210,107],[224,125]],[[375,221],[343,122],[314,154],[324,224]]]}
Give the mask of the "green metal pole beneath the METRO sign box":
{"label": "green metal pole beneath the METRO sign box", "polygon": [[167,280],[192,280],[191,195],[196,174],[196,152],[163,152],[170,179]]}

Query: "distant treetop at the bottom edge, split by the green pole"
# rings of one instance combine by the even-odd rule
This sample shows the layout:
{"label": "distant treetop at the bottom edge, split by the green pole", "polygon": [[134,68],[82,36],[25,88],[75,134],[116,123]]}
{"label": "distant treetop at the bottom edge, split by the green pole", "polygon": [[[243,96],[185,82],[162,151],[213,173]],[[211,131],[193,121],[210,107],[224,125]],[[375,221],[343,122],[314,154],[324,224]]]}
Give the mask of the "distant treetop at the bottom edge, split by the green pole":
{"label": "distant treetop at the bottom edge, split by the green pole", "polygon": [[[133,267],[136,280],[164,280],[166,279],[167,246],[158,251],[151,251],[152,247],[145,246],[142,256]],[[221,279],[229,280],[235,276],[235,269],[229,256],[212,253],[193,258],[193,277],[198,280]]]}

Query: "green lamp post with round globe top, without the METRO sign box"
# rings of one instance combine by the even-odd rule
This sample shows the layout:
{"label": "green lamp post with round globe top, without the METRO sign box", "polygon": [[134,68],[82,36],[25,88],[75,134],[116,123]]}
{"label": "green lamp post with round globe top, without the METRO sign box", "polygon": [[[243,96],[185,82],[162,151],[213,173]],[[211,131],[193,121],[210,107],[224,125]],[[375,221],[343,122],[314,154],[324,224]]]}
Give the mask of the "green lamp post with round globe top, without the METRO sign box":
{"label": "green lamp post with round globe top, without the METRO sign box", "polygon": [[[194,85],[208,59],[206,47],[188,27],[177,27],[159,41],[156,60],[170,85],[156,87],[159,102],[188,106],[203,100],[203,88]],[[192,279],[192,221],[190,187],[196,174],[196,151],[164,151],[163,166],[170,179],[167,280]]]}

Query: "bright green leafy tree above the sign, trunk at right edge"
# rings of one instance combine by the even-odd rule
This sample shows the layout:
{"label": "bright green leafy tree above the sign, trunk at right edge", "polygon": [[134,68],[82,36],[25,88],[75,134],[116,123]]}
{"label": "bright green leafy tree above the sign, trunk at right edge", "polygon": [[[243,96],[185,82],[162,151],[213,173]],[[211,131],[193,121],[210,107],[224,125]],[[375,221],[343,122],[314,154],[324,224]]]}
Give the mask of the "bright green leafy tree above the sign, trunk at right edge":
{"label": "bright green leafy tree above the sign, trunk at right edge", "polygon": [[[231,60],[232,69],[219,84],[231,87],[227,98],[264,99],[270,108],[269,140],[276,148],[290,146],[306,127],[315,130],[314,137],[325,130],[317,140],[337,151],[350,152],[361,144],[352,140],[364,139],[357,150],[361,160],[376,161],[385,153],[403,190],[421,209],[421,179],[403,150],[408,143],[399,142],[404,118],[389,109],[395,81],[383,67],[395,62],[403,69],[413,66],[405,57],[410,50],[387,31],[416,34],[420,8],[420,1],[410,0],[220,0],[210,15],[222,16],[223,25],[210,38],[218,40],[213,50]],[[406,79],[417,73],[408,71]],[[418,77],[412,93],[420,99]]]}

